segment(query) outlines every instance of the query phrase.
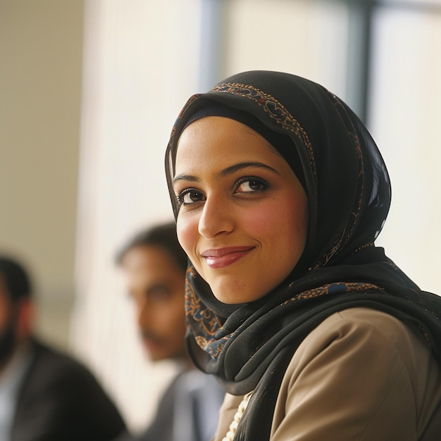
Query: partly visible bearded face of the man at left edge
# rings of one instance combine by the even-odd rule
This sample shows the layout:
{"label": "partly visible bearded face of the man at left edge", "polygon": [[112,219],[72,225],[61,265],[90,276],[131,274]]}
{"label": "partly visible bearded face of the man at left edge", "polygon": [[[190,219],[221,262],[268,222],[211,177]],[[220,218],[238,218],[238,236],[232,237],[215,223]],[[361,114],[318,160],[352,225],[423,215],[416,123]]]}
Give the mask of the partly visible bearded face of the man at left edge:
{"label": "partly visible bearded face of the man at left edge", "polygon": [[4,276],[0,273],[0,370],[15,347],[15,313],[9,299]]}

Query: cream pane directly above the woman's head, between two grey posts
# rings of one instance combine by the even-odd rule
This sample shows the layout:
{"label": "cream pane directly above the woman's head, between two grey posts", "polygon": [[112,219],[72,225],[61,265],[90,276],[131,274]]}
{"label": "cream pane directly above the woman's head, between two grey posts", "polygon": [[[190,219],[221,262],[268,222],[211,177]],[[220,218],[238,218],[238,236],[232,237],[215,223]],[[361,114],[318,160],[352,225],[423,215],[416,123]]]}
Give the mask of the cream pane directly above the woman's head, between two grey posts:
{"label": "cream pane directly above the woman's head, between two grey posts", "polygon": [[317,0],[232,0],[223,47],[223,77],[280,70],[320,82],[344,98],[347,8]]}

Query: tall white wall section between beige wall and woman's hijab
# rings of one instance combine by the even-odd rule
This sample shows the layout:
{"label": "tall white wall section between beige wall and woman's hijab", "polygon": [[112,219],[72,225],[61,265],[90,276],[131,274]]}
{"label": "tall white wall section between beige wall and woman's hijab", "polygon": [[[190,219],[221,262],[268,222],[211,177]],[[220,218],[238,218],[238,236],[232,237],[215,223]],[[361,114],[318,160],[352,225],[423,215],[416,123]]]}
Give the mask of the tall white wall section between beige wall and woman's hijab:
{"label": "tall white wall section between beige wall and woman's hijab", "polygon": [[113,259],[136,230],[173,218],[164,152],[180,108],[197,89],[199,1],[85,5],[72,340],[136,430],[147,425],[173,368],[144,358]]}

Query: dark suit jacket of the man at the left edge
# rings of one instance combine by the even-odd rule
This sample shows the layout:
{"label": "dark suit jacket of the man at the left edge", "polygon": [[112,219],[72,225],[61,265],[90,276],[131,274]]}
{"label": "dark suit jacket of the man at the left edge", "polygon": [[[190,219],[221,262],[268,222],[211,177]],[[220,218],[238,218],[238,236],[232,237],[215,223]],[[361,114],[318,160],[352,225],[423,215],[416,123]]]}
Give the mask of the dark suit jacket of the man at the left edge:
{"label": "dark suit jacket of the man at the left edge", "polygon": [[92,373],[69,356],[33,341],[18,395],[11,441],[105,441],[125,424]]}

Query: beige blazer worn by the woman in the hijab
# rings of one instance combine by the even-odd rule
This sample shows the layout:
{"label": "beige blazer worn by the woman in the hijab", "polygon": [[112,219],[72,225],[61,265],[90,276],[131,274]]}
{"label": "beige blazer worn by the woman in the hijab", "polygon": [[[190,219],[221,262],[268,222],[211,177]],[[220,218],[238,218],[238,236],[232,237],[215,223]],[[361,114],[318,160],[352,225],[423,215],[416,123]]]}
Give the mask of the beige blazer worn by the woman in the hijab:
{"label": "beige blazer worn by the woman in the hijab", "polygon": [[[241,400],[225,396],[215,441]],[[294,353],[270,440],[441,440],[441,418],[431,418],[440,401],[440,366],[418,330],[380,311],[347,309]]]}

